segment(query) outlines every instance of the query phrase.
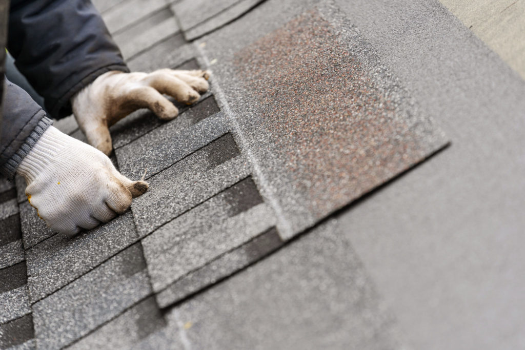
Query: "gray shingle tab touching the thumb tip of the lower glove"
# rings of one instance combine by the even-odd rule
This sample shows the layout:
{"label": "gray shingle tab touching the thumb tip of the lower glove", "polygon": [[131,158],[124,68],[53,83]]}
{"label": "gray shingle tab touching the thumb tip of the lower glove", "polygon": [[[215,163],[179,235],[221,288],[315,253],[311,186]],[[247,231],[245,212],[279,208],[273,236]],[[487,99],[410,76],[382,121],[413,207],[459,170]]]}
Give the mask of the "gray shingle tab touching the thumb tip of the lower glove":
{"label": "gray shingle tab touching the thumb tip of the lower glove", "polygon": [[233,142],[226,134],[148,180],[150,189],[131,206],[140,236],[248,176],[245,158],[228,138]]}

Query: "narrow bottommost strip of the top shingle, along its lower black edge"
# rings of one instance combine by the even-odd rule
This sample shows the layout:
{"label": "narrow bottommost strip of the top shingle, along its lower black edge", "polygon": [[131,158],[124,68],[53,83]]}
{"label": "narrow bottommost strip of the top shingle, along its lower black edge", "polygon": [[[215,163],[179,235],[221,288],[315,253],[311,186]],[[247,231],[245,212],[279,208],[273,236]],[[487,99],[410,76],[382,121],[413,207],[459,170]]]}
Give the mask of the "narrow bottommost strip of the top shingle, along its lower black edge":
{"label": "narrow bottommost strip of the top shingle, along its lower black edge", "polygon": [[155,298],[160,307],[168,307],[259,261],[282,245],[283,241],[277,230],[271,228],[174,281],[166,289],[156,293]]}

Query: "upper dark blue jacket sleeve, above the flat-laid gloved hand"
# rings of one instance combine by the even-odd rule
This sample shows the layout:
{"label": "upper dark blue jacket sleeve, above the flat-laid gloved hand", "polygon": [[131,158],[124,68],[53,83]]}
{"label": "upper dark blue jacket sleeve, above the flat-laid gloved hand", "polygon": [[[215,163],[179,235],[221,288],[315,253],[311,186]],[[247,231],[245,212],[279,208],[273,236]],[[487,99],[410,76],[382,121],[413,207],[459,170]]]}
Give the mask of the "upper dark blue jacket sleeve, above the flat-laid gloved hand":
{"label": "upper dark blue jacket sleeve, above the flat-laid gloved hand", "polygon": [[102,73],[129,71],[89,0],[11,0],[7,48],[53,118]]}

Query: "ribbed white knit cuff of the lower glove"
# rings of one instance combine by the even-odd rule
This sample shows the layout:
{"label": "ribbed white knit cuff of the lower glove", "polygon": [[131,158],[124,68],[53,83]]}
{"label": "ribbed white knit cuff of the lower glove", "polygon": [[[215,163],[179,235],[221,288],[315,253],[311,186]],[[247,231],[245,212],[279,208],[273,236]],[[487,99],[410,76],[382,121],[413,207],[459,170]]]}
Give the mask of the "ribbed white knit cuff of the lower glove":
{"label": "ribbed white knit cuff of the lower glove", "polygon": [[69,136],[60,132],[54,126],[49,126],[40,136],[37,143],[27,153],[16,169],[27,184],[35,181],[39,174],[45,172],[51,162],[56,162],[57,153],[67,145]]}

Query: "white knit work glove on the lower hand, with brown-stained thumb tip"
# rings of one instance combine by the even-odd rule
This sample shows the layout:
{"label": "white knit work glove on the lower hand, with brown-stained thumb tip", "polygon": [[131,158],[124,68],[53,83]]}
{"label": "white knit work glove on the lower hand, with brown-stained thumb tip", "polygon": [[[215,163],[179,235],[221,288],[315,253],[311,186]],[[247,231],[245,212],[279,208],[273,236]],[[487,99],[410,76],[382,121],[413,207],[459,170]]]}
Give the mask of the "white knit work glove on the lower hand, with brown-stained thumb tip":
{"label": "white knit work glove on the lower hand, with brown-stained thumb tip", "polygon": [[17,168],[31,206],[51,229],[74,235],[122,214],[148,183],[120,174],[109,158],[53,126]]}

